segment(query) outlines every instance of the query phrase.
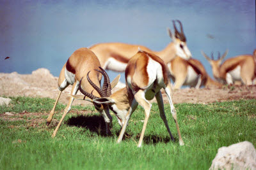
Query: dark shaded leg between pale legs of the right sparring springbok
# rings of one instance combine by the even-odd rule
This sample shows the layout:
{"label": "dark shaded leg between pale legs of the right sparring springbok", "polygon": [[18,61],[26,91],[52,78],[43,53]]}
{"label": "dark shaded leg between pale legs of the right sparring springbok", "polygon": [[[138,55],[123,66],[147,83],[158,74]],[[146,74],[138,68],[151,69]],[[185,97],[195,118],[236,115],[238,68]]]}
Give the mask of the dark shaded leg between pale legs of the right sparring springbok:
{"label": "dark shaded leg between pale legs of the right sparring springbok", "polygon": [[162,120],[164,122],[164,125],[165,125],[167,131],[169,132],[172,141],[174,141],[174,138],[172,136],[172,132],[170,131],[170,128],[169,128],[169,125],[168,125],[168,122],[166,120],[166,116],[165,116],[165,113],[164,113],[164,103],[163,103],[163,97],[162,97],[161,91],[157,92],[156,101],[157,101],[157,104],[158,104],[160,117],[162,118]]}

